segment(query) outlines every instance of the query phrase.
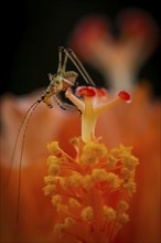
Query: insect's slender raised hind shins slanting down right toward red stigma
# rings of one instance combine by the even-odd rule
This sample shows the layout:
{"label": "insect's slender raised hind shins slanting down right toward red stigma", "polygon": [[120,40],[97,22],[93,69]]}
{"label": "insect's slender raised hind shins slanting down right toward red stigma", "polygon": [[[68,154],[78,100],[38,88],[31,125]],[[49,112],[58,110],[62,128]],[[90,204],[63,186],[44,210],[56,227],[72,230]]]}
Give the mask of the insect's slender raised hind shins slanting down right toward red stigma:
{"label": "insect's slender raised hind shins slanting down right toward red stigma", "polygon": [[64,51],[64,53],[68,56],[68,59],[71,59],[71,61],[76,66],[76,68],[79,71],[79,73],[82,74],[82,76],[84,77],[86,83],[89,84],[89,85],[96,86],[94,81],[92,80],[92,77],[89,76],[89,74],[85,70],[85,67],[83,66],[82,62],[74,54],[74,52],[72,50],[67,50],[67,49],[65,49],[63,46],[61,46],[60,49],[62,49]]}

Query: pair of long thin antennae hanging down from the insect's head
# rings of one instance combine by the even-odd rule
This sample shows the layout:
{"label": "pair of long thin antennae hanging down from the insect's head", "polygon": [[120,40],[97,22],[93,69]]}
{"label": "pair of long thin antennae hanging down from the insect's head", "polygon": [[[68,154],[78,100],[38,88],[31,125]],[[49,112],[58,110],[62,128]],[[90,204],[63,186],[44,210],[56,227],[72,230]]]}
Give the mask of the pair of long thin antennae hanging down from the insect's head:
{"label": "pair of long thin antennae hanging down from the insect's head", "polygon": [[[35,110],[35,108],[37,107],[37,105],[41,103],[42,101],[39,99],[36,102],[34,102],[32,104],[32,106],[28,109],[22,123],[21,123],[21,126],[19,128],[19,131],[18,131],[18,136],[17,136],[17,144],[18,144],[18,139],[19,139],[19,135],[20,135],[20,131],[21,131],[21,128],[28,117],[28,120],[26,120],[26,124],[25,124],[25,128],[24,128],[24,131],[23,131],[23,135],[22,135],[22,145],[21,145],[21,154],[20,154],[20,160],[19,160],[19,179],[18,179],[18,203],[17,203],[17,223],[19,223],[19,212],[20,212],[20,197],[21,197],[21,168],[22,168],[22,157],[23,157],[23,149],[24,149],[24,139],[25,139],[25,135],[26,135],[26,129],[29,127],[29,123],[30,123],[30,119],[31,119],[31,116],[33,115],[33,112]],[[31,113],[30,113],[31,112]],[[29,116],[28,116],[29,115]],[[15,152],[15,148],[17,146],[14,146],[14,152]]]}

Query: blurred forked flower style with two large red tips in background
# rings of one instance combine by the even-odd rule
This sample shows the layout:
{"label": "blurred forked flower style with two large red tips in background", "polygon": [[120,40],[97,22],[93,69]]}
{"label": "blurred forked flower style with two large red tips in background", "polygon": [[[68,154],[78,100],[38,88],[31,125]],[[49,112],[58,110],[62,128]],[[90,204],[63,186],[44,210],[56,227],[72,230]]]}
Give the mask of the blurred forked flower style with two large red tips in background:
{"label": "blurred forked flower style with two large red tips in background", "polygon": [[83,19],[71,35],[74,51],[100,72],[110,89],[132,91],[138,72],[159,43],[159,28],[146,11],[126,10],[117,18],[119,34],[101,15]]}

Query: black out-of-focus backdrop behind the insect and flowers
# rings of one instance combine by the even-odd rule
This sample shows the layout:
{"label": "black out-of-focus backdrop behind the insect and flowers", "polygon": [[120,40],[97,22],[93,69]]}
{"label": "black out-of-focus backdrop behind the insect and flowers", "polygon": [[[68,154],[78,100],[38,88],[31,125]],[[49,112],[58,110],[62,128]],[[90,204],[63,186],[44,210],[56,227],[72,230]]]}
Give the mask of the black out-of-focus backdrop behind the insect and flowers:
{"label": "black out-of-focus backdrop behind the insect and flowers", "polygon": [[[135,7],[148,11],[160,24],[161,14],[158,1],[21,0],[4,4],[1,94],[17,95],[49,85],[47,74],[57,68],[57,47],[67,46],[71,33],[83,17],[103,14],[112,21],[120,10]],[[139,73],[140,78],[151,82],[157,97],[160,95],[160,56],[158,47]],[[86,67],[92,76],[99,77],[96,71]],[[101,82],[104,84],[104,80]]]}

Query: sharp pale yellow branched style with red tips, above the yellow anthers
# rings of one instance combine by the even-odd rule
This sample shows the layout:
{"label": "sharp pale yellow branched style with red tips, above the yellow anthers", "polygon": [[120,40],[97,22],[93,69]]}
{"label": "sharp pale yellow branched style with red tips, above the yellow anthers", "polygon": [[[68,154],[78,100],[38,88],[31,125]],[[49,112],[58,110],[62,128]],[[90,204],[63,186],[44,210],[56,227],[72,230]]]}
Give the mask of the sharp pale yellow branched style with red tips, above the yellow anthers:
{"label": "sharp pale yellow branched style with red tips, above the yellow anthers", "polygon": [[82,113],[82,139],[85,142],[94,138],[96,120],[101,113],[121,101],[130,102],[130,95],[124,91],[111,102],[108,102],[104,88],[79,87],[77,88],[77,95],[83,96],[85,101],[82,102],[71,94],[69,91],[66,92],[66,97],[69,98]]}

